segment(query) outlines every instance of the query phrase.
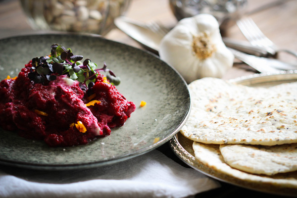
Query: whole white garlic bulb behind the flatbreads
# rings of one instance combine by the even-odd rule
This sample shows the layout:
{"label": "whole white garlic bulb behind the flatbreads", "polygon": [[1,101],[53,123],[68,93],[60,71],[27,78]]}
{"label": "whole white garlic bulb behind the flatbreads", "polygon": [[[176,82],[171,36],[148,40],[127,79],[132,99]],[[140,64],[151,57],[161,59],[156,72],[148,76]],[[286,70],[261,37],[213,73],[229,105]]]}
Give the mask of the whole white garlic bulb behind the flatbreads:
{"label": "whole white garlic bulb behind the flatbreads", "polygon": [[217,20],[210,14],[180,20],[162,39],[159,55],[187,83],[203,77],[221,78],[234,61],[222,41]]}

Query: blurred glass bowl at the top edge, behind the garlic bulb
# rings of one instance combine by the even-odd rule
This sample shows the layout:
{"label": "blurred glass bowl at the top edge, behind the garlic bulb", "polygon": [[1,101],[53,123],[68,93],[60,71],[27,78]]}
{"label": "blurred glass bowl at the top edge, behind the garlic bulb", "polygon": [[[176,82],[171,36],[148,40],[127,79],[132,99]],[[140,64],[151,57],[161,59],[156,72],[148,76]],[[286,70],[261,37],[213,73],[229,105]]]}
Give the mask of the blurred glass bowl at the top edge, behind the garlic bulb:
{"label": "blurred glass bowl at the top edge, behind the garlic bulb", "polygon": [[169,0],[171,11],[177,20],[200,13],[213,15],[225,31],[245,13],[247,0]]}

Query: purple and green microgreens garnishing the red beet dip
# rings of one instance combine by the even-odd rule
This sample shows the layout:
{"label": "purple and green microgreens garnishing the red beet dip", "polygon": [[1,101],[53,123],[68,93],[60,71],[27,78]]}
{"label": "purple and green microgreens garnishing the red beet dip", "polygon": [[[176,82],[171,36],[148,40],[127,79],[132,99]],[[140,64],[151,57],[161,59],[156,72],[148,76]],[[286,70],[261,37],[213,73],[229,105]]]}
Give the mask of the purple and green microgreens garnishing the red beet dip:
{"label": "purple and green microgreens garnishing the red beet dip", "polygon": [[90,59],[81,60],[83,56],[74,55],[71,49],[65,49],[59,44],[51,45],[50,56],[35,57],[32,59],[31,71],[28,74],[30,80],[35,83],[44,83],[53,81],[56,76],[68,75],[72,80],[80,82],[83,90],[92,88],[95,84],[99,71],[108,72],[106,78],[113,85],[118,85],[120,79],[114,73],[107,69],[104,62],[103,67],[97,69],[97,64]]}

